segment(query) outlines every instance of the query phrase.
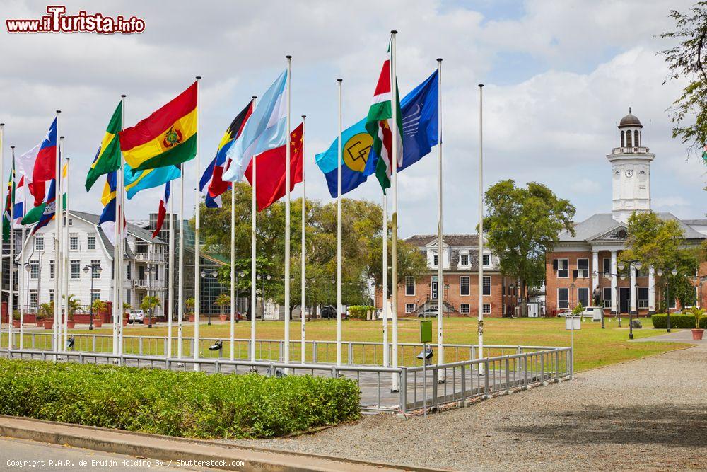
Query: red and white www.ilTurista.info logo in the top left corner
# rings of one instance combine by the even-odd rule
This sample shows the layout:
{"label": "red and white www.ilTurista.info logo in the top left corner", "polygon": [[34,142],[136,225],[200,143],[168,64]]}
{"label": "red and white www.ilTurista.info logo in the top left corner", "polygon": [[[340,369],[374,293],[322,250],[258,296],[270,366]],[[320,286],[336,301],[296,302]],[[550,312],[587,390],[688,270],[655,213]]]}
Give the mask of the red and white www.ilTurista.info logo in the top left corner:
{"label": "red and white www.ilTurista.info logo in the top left corner", "polygon": [[5,20],[8,33],[142,33],[145,21],[136,16],[105,16],[102,13],[79,11],[76,15],[64,15],[66,6],[47,6],[48,15],[26,20]]}

